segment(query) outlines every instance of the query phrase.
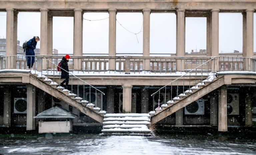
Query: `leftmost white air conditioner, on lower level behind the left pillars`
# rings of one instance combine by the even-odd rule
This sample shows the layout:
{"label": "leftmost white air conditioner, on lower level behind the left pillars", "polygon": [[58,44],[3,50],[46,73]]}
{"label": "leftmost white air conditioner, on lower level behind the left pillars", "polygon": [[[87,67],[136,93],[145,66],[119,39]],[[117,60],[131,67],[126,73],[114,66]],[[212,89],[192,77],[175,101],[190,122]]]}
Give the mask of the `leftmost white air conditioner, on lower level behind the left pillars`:
{"label": "leftmost white air conditioner, on lower level behind the left pillars", "polygon": [[14,98],[14,114],[27,114],[27,98]]}

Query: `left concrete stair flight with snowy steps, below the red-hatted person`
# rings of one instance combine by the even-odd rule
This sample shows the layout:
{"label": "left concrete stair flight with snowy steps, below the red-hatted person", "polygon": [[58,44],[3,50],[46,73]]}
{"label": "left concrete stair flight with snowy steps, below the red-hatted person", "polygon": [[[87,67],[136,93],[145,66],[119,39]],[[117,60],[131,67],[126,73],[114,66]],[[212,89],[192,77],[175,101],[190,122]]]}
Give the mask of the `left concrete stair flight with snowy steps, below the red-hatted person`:
{"label": "left concrete stair flight with snowy steps, below the red-hatted person", "polygon": [[46,76],[39,76],[38,74],[30,73],[29,81],[32,85],[75,107],[87,116],[90,116],[100,123],[103,122],[103,116],[106,114],[105,111],[100,111],[100,108],[94,107],[93,104],[83,100],[76,94],[71,93],[69,90],[64,89]]}

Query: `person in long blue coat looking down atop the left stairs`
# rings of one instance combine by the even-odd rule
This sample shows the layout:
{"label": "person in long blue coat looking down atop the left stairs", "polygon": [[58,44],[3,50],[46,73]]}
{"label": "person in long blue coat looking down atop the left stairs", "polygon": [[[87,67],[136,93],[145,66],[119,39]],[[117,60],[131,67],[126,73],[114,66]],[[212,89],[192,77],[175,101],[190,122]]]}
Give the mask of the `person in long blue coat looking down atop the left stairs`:
{"label": "person in long blue coat looking down atop the left stairs", "polygon": [[31,69],[35,62],[35,52],[34,49],[36,49],[37,41],[39,41],[39,37],[33,37],[27,42],[27,48],[26,48],[26,60],[27,60],[27,66],[28,69]]}

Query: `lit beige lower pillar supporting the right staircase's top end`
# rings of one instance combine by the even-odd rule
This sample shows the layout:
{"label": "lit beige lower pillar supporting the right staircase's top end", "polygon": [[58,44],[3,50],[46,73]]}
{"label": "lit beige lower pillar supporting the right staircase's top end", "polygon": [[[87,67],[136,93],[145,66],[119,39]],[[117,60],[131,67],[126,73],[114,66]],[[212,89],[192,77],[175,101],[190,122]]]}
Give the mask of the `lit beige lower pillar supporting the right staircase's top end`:
{"label": "lit beige lower pillar supporting the right staircase's top end", "polygon": [[219,90],[219,114],[218,115],[219,115],[218,131],[228,131],[226,86],[222,86]]}

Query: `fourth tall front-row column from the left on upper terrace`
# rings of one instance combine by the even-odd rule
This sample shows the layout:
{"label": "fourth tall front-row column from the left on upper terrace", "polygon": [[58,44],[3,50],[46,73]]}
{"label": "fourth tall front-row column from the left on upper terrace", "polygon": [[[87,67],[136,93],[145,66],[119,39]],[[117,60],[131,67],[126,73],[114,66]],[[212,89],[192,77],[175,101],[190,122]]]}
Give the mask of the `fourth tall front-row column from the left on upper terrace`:
{"label": "fourth tall front-row column from the left on upper terrace", "polygon": [[[108,9],[109,32],[108,32],[108,55],[116,55],[116,9]],[[115,59],[109,60],[109,69],[115,70]]]}

